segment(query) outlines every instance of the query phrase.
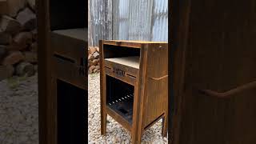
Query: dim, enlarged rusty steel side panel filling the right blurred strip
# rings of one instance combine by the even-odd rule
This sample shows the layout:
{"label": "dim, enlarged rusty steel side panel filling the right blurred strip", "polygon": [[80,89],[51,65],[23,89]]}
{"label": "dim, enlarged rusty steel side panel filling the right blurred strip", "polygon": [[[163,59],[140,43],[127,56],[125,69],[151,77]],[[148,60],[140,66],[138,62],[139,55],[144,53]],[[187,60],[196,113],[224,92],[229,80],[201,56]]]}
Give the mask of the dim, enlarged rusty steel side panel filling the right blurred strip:
{"label": "dim, enlarged rusty steel side panel filling the right blurred strip", "polygon": [[256,143],[255,1],[170,6],[173,143]]}

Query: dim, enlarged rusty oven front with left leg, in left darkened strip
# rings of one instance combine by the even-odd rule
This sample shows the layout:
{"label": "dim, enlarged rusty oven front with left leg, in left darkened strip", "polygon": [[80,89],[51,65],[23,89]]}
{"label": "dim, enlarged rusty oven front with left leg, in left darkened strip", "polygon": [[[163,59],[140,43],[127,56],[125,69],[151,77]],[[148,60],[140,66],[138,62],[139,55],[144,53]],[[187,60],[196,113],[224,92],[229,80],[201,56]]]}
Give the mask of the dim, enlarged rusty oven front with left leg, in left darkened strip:
{"label": "dim, enlarged rusty oven front with left leg, in left darkened strip", "polygon": [[86,142],[86,6],[86,1],[80,0],[38,1],[42,144]]}

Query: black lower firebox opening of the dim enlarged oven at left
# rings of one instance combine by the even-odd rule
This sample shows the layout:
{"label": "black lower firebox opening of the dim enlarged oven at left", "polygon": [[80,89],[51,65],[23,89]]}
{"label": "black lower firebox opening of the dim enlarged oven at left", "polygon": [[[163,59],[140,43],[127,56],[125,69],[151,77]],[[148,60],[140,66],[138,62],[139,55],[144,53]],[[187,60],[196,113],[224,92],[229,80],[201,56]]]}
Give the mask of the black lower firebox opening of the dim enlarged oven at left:
{"label": "black lower firebox opening of the dim enlarged oven at left", "polygon": [[86,142],[87,91],[57,80],[58,143]]}

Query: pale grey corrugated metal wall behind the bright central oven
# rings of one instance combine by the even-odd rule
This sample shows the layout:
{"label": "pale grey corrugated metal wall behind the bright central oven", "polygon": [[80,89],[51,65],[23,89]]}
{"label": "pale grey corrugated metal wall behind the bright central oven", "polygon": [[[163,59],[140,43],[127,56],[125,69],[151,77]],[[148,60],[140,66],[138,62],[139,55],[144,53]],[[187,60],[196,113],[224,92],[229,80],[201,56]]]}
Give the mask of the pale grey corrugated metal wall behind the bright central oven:
{"label": "pale grey corrugated metal wall behind the bright central oven", "polygon": [[89,46],[99,39],[168,41],[168,0],[90,0]]}

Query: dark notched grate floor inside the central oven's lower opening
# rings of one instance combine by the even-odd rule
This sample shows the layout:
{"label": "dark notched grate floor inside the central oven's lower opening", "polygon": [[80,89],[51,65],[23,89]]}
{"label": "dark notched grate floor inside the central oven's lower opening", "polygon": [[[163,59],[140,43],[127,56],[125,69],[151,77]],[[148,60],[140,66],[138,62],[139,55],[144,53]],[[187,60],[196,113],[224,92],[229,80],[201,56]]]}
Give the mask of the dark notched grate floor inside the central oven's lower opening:
{"label": "dark notched grate floor inside the central oven's lower opening", "polygon": [[134,94],[128,94],[114,101],[108,102],[107,106],[122,118],[126,119],[126,121],[131,125],[133,121],[133,103]]}

